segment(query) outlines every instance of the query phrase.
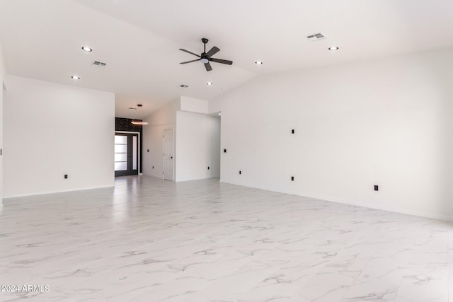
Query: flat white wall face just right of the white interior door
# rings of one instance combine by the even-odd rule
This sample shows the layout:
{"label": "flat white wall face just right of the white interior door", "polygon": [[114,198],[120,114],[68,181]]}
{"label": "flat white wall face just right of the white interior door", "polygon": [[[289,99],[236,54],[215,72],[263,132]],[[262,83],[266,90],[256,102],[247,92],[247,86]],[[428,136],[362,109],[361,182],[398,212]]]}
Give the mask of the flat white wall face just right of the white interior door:
{"label": "flat white wall face just right of the white interior door", "polygon": [[218,178],[220,118],[184,111],[178,111],[176,117],[176,181]]}

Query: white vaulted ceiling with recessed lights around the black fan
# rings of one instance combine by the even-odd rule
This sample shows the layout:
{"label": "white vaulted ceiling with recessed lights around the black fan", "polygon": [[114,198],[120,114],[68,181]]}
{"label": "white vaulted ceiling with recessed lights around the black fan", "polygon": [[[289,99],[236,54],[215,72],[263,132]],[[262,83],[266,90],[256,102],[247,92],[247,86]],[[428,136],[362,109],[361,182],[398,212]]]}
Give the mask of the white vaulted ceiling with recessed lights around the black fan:
{"label": "white vaulted ceiling with recessed lights around the black fan", "polygon": [[[319,32],[327,39],[306,39]],[[202,37],[234,64],[179,64],[196,57],[178,49],[200,53]],[[452,47],[453,1],[0,0],[0,42],[8,74],[110,91],[118,117],[142,118],[260,74]]]}

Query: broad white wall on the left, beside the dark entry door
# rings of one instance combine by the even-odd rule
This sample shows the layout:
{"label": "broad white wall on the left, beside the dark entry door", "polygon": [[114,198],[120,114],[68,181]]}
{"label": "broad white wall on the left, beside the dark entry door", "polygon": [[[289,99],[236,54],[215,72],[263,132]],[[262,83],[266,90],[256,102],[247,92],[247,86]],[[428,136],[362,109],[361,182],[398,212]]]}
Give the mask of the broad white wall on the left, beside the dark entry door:
{"label": "broad white wall on the left, beside the dark entry door", "polygon": [[113,93],[8,76],[4,197],[113,186],[114,134]]}

